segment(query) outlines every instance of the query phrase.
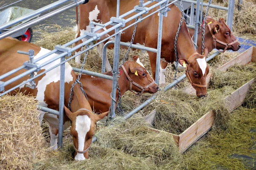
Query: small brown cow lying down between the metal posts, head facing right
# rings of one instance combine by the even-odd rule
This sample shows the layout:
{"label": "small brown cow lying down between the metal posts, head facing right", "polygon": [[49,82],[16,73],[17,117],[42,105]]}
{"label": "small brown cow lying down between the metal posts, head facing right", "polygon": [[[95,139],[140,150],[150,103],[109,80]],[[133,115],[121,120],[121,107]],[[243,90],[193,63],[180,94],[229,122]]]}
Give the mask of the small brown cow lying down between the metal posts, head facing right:
{"label": "small brown cow lying down between the metal posts, head facing right", "polygon": [[[138,56],[134,56],[133,59],[125,62],[123,67],[119,68],[119,72],[118,84],[121,96],[128,90],[135,91],[138,94],[153,94],[158,90],[157,84],[148,71],[146,71]],[[111,71],[105,72],[104,74],[112,76]],[[107,112],[111,106],[110,94],[112,91],[112,80],[83,74],[80,82],[83,84],[88,102],[95,113]],[[130,82],[134,82],[134,84]],[[118,99],[118,91],[116,91],[116,101]]]}

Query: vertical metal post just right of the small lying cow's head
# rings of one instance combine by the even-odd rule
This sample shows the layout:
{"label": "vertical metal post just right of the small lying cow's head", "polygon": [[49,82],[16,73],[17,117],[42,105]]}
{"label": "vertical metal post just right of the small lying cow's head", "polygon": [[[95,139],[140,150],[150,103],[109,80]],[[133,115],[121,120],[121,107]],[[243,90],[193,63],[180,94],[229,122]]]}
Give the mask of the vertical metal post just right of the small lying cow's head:
{"label": "vertical metal post just right of the small lying cow's head", "polygon": [[163,13],[159,12],[158,39],[157,39],[157,67],[156,67],[156,83],[157,83],[157,85],[159,85],[159,75],[160,75],[162,30],[163,30]]}

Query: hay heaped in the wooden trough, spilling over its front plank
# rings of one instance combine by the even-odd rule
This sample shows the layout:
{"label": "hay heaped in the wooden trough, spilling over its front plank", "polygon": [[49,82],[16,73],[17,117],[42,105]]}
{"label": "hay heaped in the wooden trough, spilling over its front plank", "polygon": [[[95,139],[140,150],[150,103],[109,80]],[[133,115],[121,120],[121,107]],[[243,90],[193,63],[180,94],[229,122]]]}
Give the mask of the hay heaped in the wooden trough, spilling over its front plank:
{"label": "hay heaped in the wooden trough, spilling over its front plank", "polygon": [[198,99],[182,90],[161,92],[153,102],[157,111],[154,127],[170,133],[180,134],[208,111],[215,112],[218,126],[225,126],[229,114],[224,104],[224,95],[219,90],[208,91],[208,96]]}

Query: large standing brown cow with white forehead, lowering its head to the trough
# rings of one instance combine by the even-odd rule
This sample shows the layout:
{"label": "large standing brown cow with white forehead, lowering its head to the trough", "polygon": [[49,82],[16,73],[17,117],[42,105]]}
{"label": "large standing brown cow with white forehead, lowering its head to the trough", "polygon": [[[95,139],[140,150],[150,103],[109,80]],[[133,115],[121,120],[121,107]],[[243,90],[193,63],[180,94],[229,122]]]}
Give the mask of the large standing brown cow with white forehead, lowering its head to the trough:
{"label": "large standing brown cow with white forehead, lowering its head to the trough", "polygon": [[[152,6],[154,4],[155,2],[151,3],[149,6]],[[138,0],[121,0],[120,14],[124,14],[125,12],[133,9],[135,5],[139,5]],[[174,42],[177,28],[180,22],[181,12],[175,5],[171,5],[169,7],[171,8],[171,11],[168,12],[167,17],[163,18],[161,58],[166,62],[174,62]],[[89,22],[91,20],[106,23],[110,20],[110,17],[116,16],[116,1],[89,1],[89,3],[79,6],[79,16],[79,29],[77,37],[79,37],[82,32],[86,30],[86,28],[88,28],[87,26],[89,25]],[[156,13],[151,17],[143,20],[142,23],[138,24],[137,33],[134,37],[135,44],[145,44],[145,46],[147,47],[157,48],[158,18],[159,17]],[[134,21],[130,21],[126,23],[126,25],[130,25],[132,22]],[[110,27],[111,26],[108,26],[107,28]],[[133,31],[134,28],[132,27],[126,29],[125,32],[121,34],[121,41],[130,41]],[[113,34],[113,31],[110,34]],[[79,43],[81,43],[81,41]],[[190,38],[188,29],[186,27],[186,23],[184,21],[182,23],[180,34],[178,37],[177,51],[181,64],[183,65],[183,62],[185,62],[185,64],[187,65],[187,76],[189,76],[190,82],[196,89],[197,96],[205,96],[207,93],[205,87],[205,80],[209,72],[209,68],[206,63],[206,56],[200,55],[196,52],[193,42]],[[155,78],[157,54],[153,52],[148,52],[148,55],[150,59],[152,76],[153,78]]]}

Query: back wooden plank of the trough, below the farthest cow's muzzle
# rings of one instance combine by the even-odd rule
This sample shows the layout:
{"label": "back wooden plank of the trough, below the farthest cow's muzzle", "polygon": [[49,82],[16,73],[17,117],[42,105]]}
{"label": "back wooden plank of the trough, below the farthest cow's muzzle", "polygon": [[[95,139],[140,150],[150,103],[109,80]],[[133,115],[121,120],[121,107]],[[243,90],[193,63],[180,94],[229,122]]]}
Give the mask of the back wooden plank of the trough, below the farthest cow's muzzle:
{"label": "back wooden plank of the trough, below the farthest cow's muzzle", "polygon": [[251,47],[251,48],[247,49],[246,51],[244,51],[243,53],[239,54],[236,58],[233,58],[226,64],[222,65],[219,68],[219,70],[227,71],[228,68],[230,68],[231,66],[233,66],[235,64],[246,65],[252,61],[252,54],[253,54],[253,48]]}

